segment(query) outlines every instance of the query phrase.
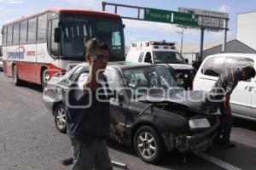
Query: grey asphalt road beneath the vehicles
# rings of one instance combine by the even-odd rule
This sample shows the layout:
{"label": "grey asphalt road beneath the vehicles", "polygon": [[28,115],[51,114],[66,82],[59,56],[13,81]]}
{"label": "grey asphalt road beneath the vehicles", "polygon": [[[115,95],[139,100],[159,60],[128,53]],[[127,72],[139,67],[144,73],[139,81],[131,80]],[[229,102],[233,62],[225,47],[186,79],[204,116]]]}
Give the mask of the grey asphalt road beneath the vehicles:
{"label": "grey asphalt road beneath the vehicles", "polygon": [[[141,161],[131,148],[108,141],[113,161],[126,163],[131,170],[164,169],[255,169],[256,122],[235,119],[231,139],[235,149],[212,146],[198,155],[169,153],[157,165]],[[53,116],[46,110],[38,85],[15,87],[12,79],[0,72],[0,169],[66,170],[61,160],[71,157],[66,134],[55,129]],[[118,169],[118,168],[115,168]]]}

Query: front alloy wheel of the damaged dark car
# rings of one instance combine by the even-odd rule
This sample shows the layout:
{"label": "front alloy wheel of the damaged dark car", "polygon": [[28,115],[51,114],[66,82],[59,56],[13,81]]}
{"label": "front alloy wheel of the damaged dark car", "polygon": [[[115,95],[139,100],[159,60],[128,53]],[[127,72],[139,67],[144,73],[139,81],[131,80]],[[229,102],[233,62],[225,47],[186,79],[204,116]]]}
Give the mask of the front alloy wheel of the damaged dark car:
{"label": "front alloy wheel of the damaged dark car", "polygon": [[164,145],[160,134],[149,126],[140,127],[133,139],[134,148],[137,155],[143,161],[154,163],[160,161],[164,153]]}

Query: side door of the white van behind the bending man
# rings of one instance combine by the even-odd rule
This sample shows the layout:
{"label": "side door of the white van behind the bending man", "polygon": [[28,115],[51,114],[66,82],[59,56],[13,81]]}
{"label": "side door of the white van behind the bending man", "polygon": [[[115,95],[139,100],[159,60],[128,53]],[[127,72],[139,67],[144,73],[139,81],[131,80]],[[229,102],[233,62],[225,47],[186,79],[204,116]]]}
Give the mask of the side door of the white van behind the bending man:
{"label": "side door of the white van behind the bending man", "polygon": [[[227,57],[224,61],[224,69],[239,68],[240,70],[246,66],[253,66],[253,59],[245,57]],[[251,117],[251,99],[252,93],[250,92],[251,81],[240,81],[230,96],[230,106],[233,114],[237,116]]]}

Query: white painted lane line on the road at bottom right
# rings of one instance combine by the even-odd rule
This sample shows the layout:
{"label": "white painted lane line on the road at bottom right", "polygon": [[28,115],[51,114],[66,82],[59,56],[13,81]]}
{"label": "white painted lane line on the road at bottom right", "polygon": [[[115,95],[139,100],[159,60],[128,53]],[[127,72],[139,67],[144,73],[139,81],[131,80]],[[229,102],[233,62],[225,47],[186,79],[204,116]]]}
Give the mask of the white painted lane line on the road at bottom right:
{"label": "white painted lane line on the road at bottom right", "polygon": [[196,156],[200,156],[201,158],[203,158],[207,161],[211,161],[212,163],[218,165],[219,167],[224,167],[227,170],[241,170],[241,168],[239,168],[239,167],[235,167],[225,161],[219,160],[216,157],[212,157],[212,156],[209,156],[209,155],[201,153],[201,152],[196,154]]}

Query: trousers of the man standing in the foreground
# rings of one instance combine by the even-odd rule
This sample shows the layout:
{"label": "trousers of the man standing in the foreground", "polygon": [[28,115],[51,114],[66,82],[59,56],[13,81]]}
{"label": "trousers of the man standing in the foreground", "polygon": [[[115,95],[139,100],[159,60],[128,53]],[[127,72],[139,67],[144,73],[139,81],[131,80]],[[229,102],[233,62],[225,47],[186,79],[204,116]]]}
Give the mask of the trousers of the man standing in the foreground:
{"label": "trousers of the man standing in the foreground", "polygon": [[113,170],[104,139],[81,141],[71,139],[73,167],[71,170]]}

